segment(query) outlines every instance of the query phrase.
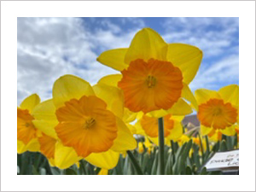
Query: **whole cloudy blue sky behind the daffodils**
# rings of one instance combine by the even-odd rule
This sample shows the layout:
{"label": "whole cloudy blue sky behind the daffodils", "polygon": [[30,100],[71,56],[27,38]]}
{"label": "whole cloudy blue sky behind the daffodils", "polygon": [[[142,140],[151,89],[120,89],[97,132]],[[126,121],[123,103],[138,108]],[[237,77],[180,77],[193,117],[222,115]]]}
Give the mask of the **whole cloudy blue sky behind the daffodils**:
{"label": "whole cloudy blue sky behind the daffodils", "polygon": [[17,104],[37,93],[52,97],[52,86],[64,74],[96,84],[119,73],[96,61],[108,49],[128,48],[143,27],[159,32],[166,43],[197,46],[201,67],[189,84],[218,90],[239,84],[239,19],[237,17],[166,18],[18,18]]}

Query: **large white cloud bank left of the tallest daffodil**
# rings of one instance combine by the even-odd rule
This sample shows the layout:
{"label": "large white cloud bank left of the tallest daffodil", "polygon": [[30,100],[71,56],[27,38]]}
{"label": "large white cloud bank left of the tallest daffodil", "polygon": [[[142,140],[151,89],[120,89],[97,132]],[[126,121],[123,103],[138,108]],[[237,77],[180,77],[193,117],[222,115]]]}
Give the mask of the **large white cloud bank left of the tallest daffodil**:
{"label": "large white cloud bank left of the tallest daffodil", "polygon": [[119,35],[120,27],[109,20],[102,25],[107,28],[91,32],[80,18],[18,18],[18,105],[32,93],[49,99],[55,79],[64,74],[96,84],[104,75],[118,73],[96,61],[96,50],[128,47],[139,28]]}

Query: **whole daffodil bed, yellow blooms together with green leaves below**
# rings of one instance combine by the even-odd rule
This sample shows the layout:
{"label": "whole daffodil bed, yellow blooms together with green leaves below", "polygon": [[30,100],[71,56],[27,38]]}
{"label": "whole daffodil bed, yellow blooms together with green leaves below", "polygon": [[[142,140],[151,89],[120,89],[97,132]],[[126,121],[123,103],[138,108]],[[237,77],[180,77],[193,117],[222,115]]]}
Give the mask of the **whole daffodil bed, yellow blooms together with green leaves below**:
{"label": "whole daffodil bed, yellow blooms together with green leaves below", "polygon": [[[94,85],[66,74],[51,99],[27,96],[17,108],[17,174],[223,174],[204,166],[239,148],[239,86],[193,93],[202,57],[200,48],[143,28],[129,48],[96,58],[116,74]],[[183,125],[191,113],[199,126]]]}

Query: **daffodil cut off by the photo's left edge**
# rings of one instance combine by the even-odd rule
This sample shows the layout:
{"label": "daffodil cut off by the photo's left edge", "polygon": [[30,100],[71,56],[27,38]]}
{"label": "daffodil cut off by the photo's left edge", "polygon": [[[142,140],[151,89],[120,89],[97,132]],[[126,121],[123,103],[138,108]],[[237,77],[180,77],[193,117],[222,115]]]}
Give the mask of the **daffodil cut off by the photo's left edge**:
{"label": "daffodil cut off by the photo's left edge", "polygon": [[39,151],[38,136],[40,131],[33,125],[33,109],[40,102],[37,94],[26,97],[17,108],[17,152]]}

